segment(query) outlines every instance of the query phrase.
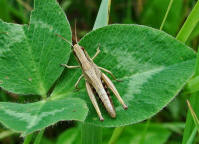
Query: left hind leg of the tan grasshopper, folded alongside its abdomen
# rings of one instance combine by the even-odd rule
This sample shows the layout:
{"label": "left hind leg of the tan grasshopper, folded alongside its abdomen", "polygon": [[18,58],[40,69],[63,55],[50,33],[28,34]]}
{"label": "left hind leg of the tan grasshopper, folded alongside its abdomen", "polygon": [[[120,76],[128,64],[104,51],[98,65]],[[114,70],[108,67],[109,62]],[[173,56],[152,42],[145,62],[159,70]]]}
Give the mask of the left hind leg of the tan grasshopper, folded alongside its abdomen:
{"label": "left hind leg of the tan grasshopper, folded alongside its abdomen", "polygon": [[90,84],[87,81],[86,81],[86,89],[87,89],[87,92],[88,92],[88,96],[89,96],[89,98],[90,98],[90,100],[91,100],[91,102],[92,102],[92,104],[93,104],[93,106],[94,106],[94,108],[97,112],[97,115],[99,116],[100,120],[103,121],[104,118],[102,117],[101,111],[100,111],[99,106],[97,104],[97,100],[95,98],[95,95],[93,93],[93,90],[92,90]]}

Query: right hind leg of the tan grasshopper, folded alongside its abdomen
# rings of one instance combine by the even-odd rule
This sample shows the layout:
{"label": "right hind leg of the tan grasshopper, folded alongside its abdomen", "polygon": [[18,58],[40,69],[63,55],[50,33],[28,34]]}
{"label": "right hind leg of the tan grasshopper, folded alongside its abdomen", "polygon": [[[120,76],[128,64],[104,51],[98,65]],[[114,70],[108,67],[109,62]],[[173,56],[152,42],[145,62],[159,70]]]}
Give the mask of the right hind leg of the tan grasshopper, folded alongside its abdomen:
{"label": "right hind leg of the tan grasshopper, folded alongside its abdomen", "polygon": [[102,73],[102,79],[104,80],[108,88],[114,93],[118,101],[122,104],[123,108],[127,109],[127,105],[124,103],[123,99],[121,98],[112,81],[104,73]]}

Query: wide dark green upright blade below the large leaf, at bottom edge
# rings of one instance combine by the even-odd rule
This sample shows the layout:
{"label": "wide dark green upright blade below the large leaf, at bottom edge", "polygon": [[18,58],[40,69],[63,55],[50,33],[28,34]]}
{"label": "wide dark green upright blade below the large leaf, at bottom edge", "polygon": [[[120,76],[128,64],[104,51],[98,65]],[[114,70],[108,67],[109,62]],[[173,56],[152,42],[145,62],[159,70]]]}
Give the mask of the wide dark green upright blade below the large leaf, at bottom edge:
{"label": "wide dark green upright blade below the large leaf, at bottom edge", "polygon": [[101,144],[102,143],[102,127],[82,123],[82,144]]}

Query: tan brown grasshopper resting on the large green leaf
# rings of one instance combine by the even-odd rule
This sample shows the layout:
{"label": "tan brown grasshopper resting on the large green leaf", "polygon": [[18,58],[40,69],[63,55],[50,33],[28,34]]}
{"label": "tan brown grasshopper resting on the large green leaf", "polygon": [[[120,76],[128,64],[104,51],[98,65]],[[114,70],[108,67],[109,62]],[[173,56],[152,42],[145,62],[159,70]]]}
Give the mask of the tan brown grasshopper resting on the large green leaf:
{"label": "tan brown grasshopper resting on the large green leaf", "polygon": [[123,108],[127,109],[128,108],[127,105],[124,103],[123,99],[121,98],[120,94],[118,93],[112,81],[100,70],[109,73],[115,80],[117,80],[115,76],[111,73],[111,71],[105,68],[99,67],[93,62],[95,57],[97,57],[97,55],[100,53],[99,47],[95,55],[91,58],[86,52],[86,50],[77,43],[77,38],[76,38],[76,44],[72,45],[68,40],[66,40],[61,35],[58,35],[58,36],[64,39],[67,43],[69,43],[73,47],[74,55],[79,63],[79,66],[68,66],[67,64],[62,64],[62,66],[65,66],[69,69],[81,68],[82,75],[79,77],[79,79],[75,83],[75,88],[78,88],[78,84],[80,80],[84,77],[85,82],[86,82],[86,89],[87,89],[88,96],[90,97],[90,100],[97,112],[99,119],[101,121],[104,120],[101,114],[101,111],[99,109],[99,106],[97,104],[97,100],[95,98],[95,92],[101,99],[109,115],[112,118],[116,117],[114,106],[112,104],[111,99],[109,98],[109,94],[106,88],[109,88],[114,93],[118,101],[122,104]]}

